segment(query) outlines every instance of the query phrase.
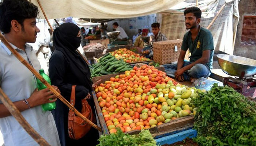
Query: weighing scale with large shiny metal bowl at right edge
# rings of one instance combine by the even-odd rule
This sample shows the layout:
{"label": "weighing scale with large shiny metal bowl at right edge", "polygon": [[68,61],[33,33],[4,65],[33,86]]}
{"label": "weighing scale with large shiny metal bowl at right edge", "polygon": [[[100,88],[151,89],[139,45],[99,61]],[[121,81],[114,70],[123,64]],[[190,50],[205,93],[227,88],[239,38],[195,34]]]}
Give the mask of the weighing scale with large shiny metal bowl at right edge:
{"label": "weighing scale with large shiny metal bowl at right edge", "polygon": [[223,78],[223,85],[244,96],[256,97],[256,60],[235,55],[217,55],[217,58],[223,72],[235,76]]}

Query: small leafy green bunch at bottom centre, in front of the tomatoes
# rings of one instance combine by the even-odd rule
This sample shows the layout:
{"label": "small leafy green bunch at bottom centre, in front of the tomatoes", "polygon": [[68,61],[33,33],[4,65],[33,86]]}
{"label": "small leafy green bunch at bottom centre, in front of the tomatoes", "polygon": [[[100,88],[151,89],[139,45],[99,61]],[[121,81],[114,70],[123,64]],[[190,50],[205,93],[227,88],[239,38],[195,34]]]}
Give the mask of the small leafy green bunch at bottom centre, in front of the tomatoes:
{"label": "small leafy green bunch at bottom centre, in front of the tomatoes", "polygon": [[124,134],[120,129],[116,134],[101,135],[97,146],[156,146],[149,130],[142,130],[137,135]]}

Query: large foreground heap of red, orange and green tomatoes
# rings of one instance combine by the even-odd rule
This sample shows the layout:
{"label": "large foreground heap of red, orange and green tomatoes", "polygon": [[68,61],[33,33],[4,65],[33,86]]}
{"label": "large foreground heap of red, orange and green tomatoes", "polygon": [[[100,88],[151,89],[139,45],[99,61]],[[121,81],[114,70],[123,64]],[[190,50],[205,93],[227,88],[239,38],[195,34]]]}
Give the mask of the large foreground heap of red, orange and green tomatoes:
{"label": "large foreground heap of red, orange and green tomatoes", "polygon": [[134,66],[95,88],[109,132],[141,130],[193,115],[200,90],[178,84],[154,66]]}

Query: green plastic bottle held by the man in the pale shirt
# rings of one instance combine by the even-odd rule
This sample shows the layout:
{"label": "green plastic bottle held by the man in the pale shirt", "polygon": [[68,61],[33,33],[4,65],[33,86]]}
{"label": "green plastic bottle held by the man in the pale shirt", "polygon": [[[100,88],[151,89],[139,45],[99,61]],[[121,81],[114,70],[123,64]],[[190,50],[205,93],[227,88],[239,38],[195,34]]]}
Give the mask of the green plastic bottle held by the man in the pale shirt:
{"label": "green plastic bottle held by the man in the pale shirt", "polygon": [[[49,76],[47,76],[47,74],[45,74],[44,70],[43,69],[40,69],[39,70],[39,74],[50,84],[51,84],[51,80],[49,78]],[[37,88],[38,90],[42,90],[42,89],[45,89],[47,88],[38,78],[37,78]],[[52,100],[52,99],[50,99]],[[42,109],[43,111],[52,111],[54,110],[56,107],[56,103],[45,103],[45,104],[42,104]]]}

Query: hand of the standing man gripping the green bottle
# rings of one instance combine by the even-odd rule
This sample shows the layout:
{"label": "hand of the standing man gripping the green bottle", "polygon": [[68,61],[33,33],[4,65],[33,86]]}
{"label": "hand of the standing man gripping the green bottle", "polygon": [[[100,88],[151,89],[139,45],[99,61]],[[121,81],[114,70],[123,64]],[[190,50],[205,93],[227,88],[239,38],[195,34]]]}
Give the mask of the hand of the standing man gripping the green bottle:
{"label": "hand of the standing man gripping the green bottle", "polygon": [[[55,88],[59,93],[60,90],[56,86],[52,86]],[[52,100],[49,100],[52,99]],[[57,100],[56,96],[50,91],[48,88],[39,90],[35,89],[35,91],[31,94],[27,101],[30,104],[30,107],[36,107],[38,105],[42,105],[45,103],[53,103]]]}

